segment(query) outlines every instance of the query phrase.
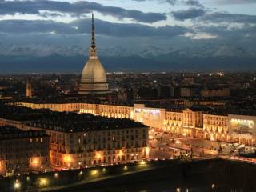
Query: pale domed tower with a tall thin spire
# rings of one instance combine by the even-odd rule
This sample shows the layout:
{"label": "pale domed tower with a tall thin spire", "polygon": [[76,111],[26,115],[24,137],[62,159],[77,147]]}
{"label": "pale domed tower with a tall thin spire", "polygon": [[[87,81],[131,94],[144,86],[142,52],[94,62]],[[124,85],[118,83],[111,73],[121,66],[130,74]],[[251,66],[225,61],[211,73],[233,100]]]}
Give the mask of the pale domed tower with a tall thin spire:
{"label": "pale domed tower with a tall thin spire", "polygon": [[82,70],[78,94],[107,94],[109,87],[106,72],[99,61],[94,34],[94,14],[92,14],[90,58]]}

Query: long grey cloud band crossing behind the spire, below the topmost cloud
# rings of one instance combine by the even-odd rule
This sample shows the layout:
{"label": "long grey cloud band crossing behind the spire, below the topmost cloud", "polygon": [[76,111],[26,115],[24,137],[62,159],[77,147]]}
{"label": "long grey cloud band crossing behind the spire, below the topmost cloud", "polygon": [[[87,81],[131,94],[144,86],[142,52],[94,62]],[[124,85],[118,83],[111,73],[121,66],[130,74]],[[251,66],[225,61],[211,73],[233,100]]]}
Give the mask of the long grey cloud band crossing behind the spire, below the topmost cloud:
{"label": "long grey cloud band crossing behind the spire, below the topmost cloud", "polygon": [[[63,23],[46,20],[2,20],[2,33],[6,34],[90,34],[90,19],[78,19],[74,22]],[[146,26],[140,24],[120,24],[95,20],[97,34],[119,37],[173,37],[191,30],[183,26]]]}

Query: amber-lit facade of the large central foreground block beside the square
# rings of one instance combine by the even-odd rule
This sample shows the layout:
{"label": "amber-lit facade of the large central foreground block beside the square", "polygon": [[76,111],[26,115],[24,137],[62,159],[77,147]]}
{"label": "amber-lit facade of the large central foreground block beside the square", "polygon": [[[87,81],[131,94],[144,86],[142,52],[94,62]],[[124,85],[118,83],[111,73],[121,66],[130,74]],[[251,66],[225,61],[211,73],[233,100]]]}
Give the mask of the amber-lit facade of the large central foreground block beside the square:
{"label": "amber-lit facade of the large central foreground block beside the square", "polygon": [[70,169],[138,161],[149,157],[148,127],[119,127],[113,130],[46,130],[50,135],[50,163]]}

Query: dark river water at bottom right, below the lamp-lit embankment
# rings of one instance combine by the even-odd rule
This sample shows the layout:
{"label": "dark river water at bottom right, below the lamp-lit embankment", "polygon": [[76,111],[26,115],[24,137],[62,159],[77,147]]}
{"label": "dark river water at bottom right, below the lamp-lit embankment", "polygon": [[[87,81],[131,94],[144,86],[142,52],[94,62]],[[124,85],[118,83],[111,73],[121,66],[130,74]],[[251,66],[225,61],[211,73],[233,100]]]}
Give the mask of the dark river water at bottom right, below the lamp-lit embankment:
{"label": "dark river water at bottom right, below the lamp-lit embankment", "polygon": [[53,191],[256,191],[256,166],[222,159],[174,163]]}

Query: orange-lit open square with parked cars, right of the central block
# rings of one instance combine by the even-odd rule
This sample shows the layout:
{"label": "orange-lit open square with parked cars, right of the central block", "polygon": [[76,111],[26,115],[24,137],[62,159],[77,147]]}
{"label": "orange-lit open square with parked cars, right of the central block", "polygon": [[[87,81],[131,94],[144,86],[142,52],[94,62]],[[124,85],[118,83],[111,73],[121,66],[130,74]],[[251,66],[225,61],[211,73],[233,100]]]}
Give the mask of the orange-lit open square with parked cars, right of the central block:
{"label": "orange-lit open square with parked cars, right of the central block", "polygon": [[[243,147],[238,144],[216,142],[202,138],[175,137],[172,134],[150,130],[150,158],[227,158],[236,161],[255,162],[254,159],[234,156],[238,149]],[[254,153],[255,147],[245,146],[247,153]]]}

